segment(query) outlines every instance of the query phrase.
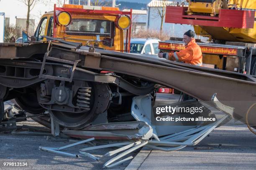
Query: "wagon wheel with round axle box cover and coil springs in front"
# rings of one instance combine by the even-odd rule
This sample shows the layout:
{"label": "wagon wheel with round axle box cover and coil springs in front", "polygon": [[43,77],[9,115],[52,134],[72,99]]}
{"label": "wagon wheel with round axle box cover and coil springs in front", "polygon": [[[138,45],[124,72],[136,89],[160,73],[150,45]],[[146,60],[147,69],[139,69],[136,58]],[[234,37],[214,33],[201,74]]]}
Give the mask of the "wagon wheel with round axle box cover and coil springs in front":
{"label": "wagon wheel with round axle box cover and coil springs in front", "polygon": [[[46,92],[47,91],[47,92]],[[62,127],[82,129],[108,109],[111,91],[107,83],[46,80],[37,90],[39,104]]]}

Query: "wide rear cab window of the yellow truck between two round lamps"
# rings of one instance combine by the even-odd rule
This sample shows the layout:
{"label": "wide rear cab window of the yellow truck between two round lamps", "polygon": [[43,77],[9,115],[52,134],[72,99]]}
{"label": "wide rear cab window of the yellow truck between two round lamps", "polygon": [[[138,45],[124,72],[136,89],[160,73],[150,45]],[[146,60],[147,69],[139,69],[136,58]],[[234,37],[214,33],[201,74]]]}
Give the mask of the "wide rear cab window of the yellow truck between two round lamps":
{"label": "wide rear cab window of the yellow truck between two round lamps", "polygon": [[72,19],[72,23],[66,27],[67,35],[100,35],[111,37],[113,22],[107,20]]}

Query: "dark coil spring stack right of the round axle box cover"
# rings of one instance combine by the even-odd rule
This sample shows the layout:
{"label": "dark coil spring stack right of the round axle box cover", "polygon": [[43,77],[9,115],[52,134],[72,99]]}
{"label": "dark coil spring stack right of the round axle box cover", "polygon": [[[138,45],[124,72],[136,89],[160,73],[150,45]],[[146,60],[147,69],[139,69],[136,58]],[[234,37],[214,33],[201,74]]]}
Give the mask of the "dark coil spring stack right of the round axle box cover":
{"label": "dark coil spring stack right of the round axle box cover", "polygon": [[81,87],[77,92],[77,106],[82,108],[90,108],[91,87]]}

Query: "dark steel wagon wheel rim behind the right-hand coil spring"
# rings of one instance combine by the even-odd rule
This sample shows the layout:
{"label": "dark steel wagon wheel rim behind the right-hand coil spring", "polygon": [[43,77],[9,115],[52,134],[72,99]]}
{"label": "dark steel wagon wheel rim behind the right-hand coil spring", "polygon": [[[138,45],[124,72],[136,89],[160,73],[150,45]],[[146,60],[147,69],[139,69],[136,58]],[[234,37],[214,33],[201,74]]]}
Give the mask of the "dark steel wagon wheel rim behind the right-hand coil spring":
{"label": "dark steel wagon wheel rim behind the right-hand coil spring", "polygon": [[79,87],[77,95],[73,97],[74,105],[80,108],[80,112],[65,111],[68,110],[67,105],[59,105],[57,107],[59,110],[51,109],[49,113],[59,125],[74,130],[81,129],[90,125],[100,113],[108,109],[110,99],[108,85],[103,83],[86,84]]}

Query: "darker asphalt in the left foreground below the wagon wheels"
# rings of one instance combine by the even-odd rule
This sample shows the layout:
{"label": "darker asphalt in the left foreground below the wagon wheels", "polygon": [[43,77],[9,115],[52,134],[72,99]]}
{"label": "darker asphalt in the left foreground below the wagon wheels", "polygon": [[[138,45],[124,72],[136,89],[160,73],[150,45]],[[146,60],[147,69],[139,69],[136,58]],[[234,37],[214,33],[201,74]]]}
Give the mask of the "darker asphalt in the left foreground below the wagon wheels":
{"label": "darker asphalt in the left foreground below the wagon wheels", "polygon": [[[33,120],[28,120],[22,123],[23,125],[34,126],[44,129],[41,125]],[[19,125],[21,125],[19,123]],[[56,142],[46,140],[46,136],[25,136],[25,135],[11,135],[0,133],[0,170],[10,170],[10,168],[3,167],[4,162],[26,162],[28,169],[33,170],[99,170],[102,169],[103,164],[106,162],[95,162],[94,160],[86,157],[84,159],[68,158],[56,155],[54,153],[46,153],[39,151],[39,146],[45,147],[61,147],[69,145],[70,142]],[[86,148],[90,145],[77,145],[72,148],[65,149],[68,153],[78,153],[81,148]],[[95,156],[104,155],[105,153],[113,150],[100,149],[94,150]],[[90,152],[89,152],[90,153]],[[132,153],[135,156],[138,153]],[[129,155],[129,156],[131,156]],[[129,162],[124,163],[115,170],[123,170]],[[23,170],[25,167],[14,168],[15,170]]]}

